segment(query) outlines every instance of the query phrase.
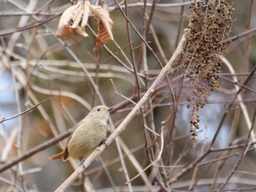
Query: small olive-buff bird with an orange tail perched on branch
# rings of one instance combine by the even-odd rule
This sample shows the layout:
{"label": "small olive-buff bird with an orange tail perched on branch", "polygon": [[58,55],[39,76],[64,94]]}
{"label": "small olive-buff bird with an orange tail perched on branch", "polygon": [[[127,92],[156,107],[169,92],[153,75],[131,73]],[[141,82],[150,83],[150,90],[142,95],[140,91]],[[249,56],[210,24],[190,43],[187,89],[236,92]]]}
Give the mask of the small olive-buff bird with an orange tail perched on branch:
{"label": "small olive-buff bird with an orange tail perched on branch", "polygon": [[107,121],[113,107],[99,105],[81,120],[72,130],[65,150],[51,156],[49,159],[62,158],[67,161],[70,157],[78,158],[81,162],[87,158],[107,137]]}

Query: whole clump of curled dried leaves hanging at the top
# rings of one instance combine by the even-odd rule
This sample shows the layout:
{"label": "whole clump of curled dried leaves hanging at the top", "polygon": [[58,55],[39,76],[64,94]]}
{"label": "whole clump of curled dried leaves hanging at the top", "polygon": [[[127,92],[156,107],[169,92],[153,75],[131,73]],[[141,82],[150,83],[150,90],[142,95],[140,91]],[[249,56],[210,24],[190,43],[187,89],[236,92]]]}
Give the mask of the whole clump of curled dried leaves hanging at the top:
{"label": "whole clump of curled dried leaves hanging at the top", "polygon": [[85,26],[87,25],[90,12],[92,12],[95,18],[99,21],[94,51],[99,50],[105,43],[113,40],[111,31],[113,20],[110,19],[107,4],[95,6],[91,4],[90,1],[80,1],[80,3],[73,5],[64,11],[59,20],[56,37],[69,37],[74,34],[88,37]]}

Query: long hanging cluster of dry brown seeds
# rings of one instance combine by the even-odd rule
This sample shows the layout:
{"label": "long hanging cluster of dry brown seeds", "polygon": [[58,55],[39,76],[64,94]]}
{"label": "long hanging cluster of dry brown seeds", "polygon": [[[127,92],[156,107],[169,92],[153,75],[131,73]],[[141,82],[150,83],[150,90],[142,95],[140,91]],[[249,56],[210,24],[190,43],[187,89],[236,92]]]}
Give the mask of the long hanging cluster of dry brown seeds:
{"label": "long hanging cluster of dry brown seeds", "polygon": [[225,52],[223,40],[231,31],[233,10],[225,0],[197,0],[191,2],[187,13],[189,26],[185,34],[189,53],[184,61],[184,77],[191,83],[187,107],[193,107],[190,132],[194,147],[199,128],[198,111],[208,102],[210,91],[219,88],[219,55]]}

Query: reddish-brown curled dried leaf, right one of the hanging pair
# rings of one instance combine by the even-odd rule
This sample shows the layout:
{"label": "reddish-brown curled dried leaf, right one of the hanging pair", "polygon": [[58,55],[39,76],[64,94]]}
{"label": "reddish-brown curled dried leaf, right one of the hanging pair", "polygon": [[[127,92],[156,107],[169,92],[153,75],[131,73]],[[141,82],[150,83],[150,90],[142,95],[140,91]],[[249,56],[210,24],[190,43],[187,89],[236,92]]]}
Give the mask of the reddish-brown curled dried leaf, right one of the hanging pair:
{"label": "reddish-brown curled dried leaf, right one of the hanging pair", "polygon": [[113,20],[110,19],[108,12],[108,5],[103,4],[101,6],[90,5],[91,12],[94,13],[95,18],[99,20],[98,34],[95,42],[94,52],[98,51],[105,43],[113,40],[113,34],[111,28],[113,26]]}

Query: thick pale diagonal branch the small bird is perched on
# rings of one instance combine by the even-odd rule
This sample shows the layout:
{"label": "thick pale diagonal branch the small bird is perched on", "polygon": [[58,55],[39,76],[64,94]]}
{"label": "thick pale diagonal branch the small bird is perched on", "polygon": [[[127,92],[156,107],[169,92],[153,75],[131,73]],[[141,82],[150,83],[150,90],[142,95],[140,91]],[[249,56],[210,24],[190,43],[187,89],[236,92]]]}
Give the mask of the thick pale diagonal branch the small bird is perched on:
{"label": "thick pale diagonal branch the small bird is perched on", "polygon": [[[179,58],[181,58],[181,55],[183,55],[184,47],[186,45],[187,38],[183,36],[181,38],[181,42],[178,44],[178,47],[173,53],[173,56],[170,58],[170,60],[167,62],[166,66],[161,70],[159,75],[157,76],[157,79],[153,82],[151,87],[146,91],[145,95],[138,101],[138,104],[135,105],[135,107],[132,109],[131,112],[127,115],[126,118],[121,122],[121,124],[113,131],[112,134],[110,134],[110,137],[106,139],[105,143],[106,145],[110,145],[111,142],[118,137],[119,134],[121,134],[122,131],[127,127],[128,123],[132,120],[132,118],[135,117],[135,115],[140,112],[140,108],[143,107],[143,104],[150,99],[154,91],[156,90],[157,86],[164,80],[165,76],[170,72],[170,69],[172,68],[172,64],[178,61]],[[78,169],[75,170],[68,178],[67,180],[62,183],[59,188],[56,189],[57,191],[64,191],[73,183],[73,181],[84,171],[84,168],[86,169],[94,160],[97,158],[97,156],[102,153],[102,151],[105,150],[105,145],[101,145],[97,147],[96,150],[94,150],[94,153],[92,153],[86,161],[83,163],[83,165],[79,166]]]}

